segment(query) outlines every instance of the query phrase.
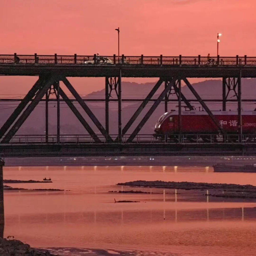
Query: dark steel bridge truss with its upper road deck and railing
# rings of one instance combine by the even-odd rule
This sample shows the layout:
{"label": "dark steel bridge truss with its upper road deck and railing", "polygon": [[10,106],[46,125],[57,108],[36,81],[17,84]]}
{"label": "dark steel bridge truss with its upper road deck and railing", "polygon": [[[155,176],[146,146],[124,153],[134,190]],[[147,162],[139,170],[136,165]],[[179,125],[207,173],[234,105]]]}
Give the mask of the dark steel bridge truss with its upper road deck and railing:
{"label": "dark steel bridge truss with its upper road deck and railing", "polygon": [[[101,59],[103,59],[104,62],[100,62]],[[45,101],[45,136],[44,141],[41,141],[40,144],[51,143],[49,141],[49,137],[51,135],[49,134],[48,127],[48,103],[52,100],[57,102],[57,144],[63,144],[63,142],[61,142],[60,130],[61,101],[66,102],[70,110],[83,125],[84,129],[88,132],[89,136],[92,138],[92,141],[95,144],[97,143],[98,145],[101,145],[101,143],[119,143],[120,146],[122,146],[124,143],[126,143],[127,145],[127,143],[136,142],[138,134],[140,133],[142,127],[145,125],[147,120],[150,118],[152,113],[156,110],[157,106],[159,106],[161,102],[164,102],[166,112],[168,111],[168,102],[178,102],[179,127],[182,124],[182,104],[185,104],[187,109],[193,110],[194,108],[191,105],[191,102],[199,102],[202,108],[208,113],[213,123],[218,127],[218,130],[223,135],[225,135],[222,126],[215,119],[214,114],[208,108],[206,102],[222,101],[222,110],[226,111],[226,103],[228,101],[235,101],[238,104],[238,143],[244,143],[242,139],[243,134],[241,125],[241,104],[242,101],[256,100],[241,99],[241,78],[256,76],[256,58],[247,56],[217,56],[213,58],[214,61],[211,60],[211,62],[209,62],[207,57],[201,57],[200,55],[197,57],[182,57],[181,55],[178,57],[164,57],[162,55],[159,57],[147,57],[143,55],[136,57],[122,55],[119,61],[117,61],[116,59],[117,58],[115,55],[101,56],[98,57],[98,59],[96,55],[0,55],[1,75],[38,76],[38,80],[36,81],[36,83],[32,86],[27,95],[20,101],[17,108],[0,128],[0,149],[2,149],[2,156],[13,156],[10,151],[7,150],[7,148],[14,148],[14,138],[16,132],[40,101]],[[70,83],[67,77],[105,77],[105,124],[100,123],[100,121],[97,119],[97,117],[93,114],[92,110],[88,106],[88,100],[81,98],[81,96],[75,90],[74,86]],[[151,91],[144,99],[122,99],[122,77],[159,77],[159,80],[156,82],[155,86],[151,89]],[[222,77],[222,99],[202,100],[195,88],[190,84],[189,80],[187,79],[188,77]],[[70,91],[70,93],[72,94],[72,99],[70,99],[60,87],[60,81],[62,81],[67,89]],[[183,93],[181,92],[182,81],[184,81],[184,83],[187,85],[191,93],[194,95],[195,99],[187,99],[185,95],[183,95]],[[157,94],[157,98],[153,97],[156,94],[156,91],[159,92],[159,88],[162,84],[164,84],[163,90],[159,94]],[[172,93],[176,94],[177,99],[169,98]],[[231,93],[234,94],[234,99],[228,98]],[[52,94],[56,96],[55,99],[50,98],[50,95]],[[9,100],[12,101],[12,99]],[[139,101],[141,102],[141,104],[133,113],[130,120],[127,123],[123,124],[122,103],[129,100]],[[85,120],[80,111],[73,104],[74,101],[79,103],[79,107],[83,109],[83,111],[95,124],[98,129],[97,132],[92,129],[92,127]],[[98,99],[90,99],[90,102],[93,101],[98,101]],[[111,131],[109,131],[109,103],[111,101],[118,102],[118,134],[116,136],[111,135]],[[149,108],[147,113],[143,116],[143,118],[138,122],[138,117],[143,109],[147,106],[148,102],[153,102],[153,104]],[[137,126],[132,132],[130,132],[130,134],[127,134],[129,128],[136,121],[138,122]],[[33,143],[33,141],[30,141],[30,144],[31,143]],[[161,142],[159,143],[161,144]],[[229,143],[229,141],[227,141],[227,143]],[[141,143],[140,145],[142,146],[142,144],[143,143]],[[147,144],[147,142],[144,142],[144,144]],[[183,142],[183,144],[185,145],[186,142]],[[238,145],[236,145],[236,147],[237,146]],[[33,156],[33,152],[34,151],[31,151],[31,154],[27,153],[27,155]],[[65,155],[72,155],[73,152],[73,150],[70,150],[70,153],[65,153]],[[129,152],[123,153],[129,155]],[[132,153],[133,152],[131,152],[131,154]],[[98,154],[99,152],[97,152],[97,155]],[[102,150],[102,155],[104,154],[104,150]],[[116,155],[116,152],[113,152],[113,154]],[[147,153],[143,153],[143,155],[146,154]],[[152,155],[153,152],[148,151],[148,154]],[[158,152],[157,154],[166,155],[167,153]],[[22,154],[22,156],[26,156],[26,154]],[[42,154],[42,156],[44,156],[44,154]]]}

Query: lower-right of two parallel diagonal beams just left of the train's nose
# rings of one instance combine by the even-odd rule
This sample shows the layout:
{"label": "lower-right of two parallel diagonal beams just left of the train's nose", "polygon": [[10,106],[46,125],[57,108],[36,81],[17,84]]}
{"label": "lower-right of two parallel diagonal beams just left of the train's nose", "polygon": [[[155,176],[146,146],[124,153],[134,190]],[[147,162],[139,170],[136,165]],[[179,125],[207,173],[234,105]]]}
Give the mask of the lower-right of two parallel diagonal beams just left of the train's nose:
{"label": "lower-right of two parallel diagonal beams just left of the train's nose", "polygon": [[170,90],[170,88],[172,87],[172,81],[173,79],[170,81],[170,83],[165,87],[165,89],[163,90],[163,92],[159,95],[159,97],[157,98],[157,100],[154,102],[154,104],[151,106],[150,110],[148,110],[148,112],[146,113],[146,115],[143,117],[143,119],[141,120],[141,122],[137,125],[137,127],[135,128],[135,130],[133,131],[133,133],[130,135],[130,137],[128,138],[127,142],[132,142],[132,140],[135,138],[135,136],[138,134],[138,132],[141,130],[141,128],[143,127],[143,125],[147,122],[147,120],[150,118],[150,116],[152,115],[152,113],[155,111],[155,109],[157,108],[157,106],[159,105],[159,103],[163,100],[165,94]]}

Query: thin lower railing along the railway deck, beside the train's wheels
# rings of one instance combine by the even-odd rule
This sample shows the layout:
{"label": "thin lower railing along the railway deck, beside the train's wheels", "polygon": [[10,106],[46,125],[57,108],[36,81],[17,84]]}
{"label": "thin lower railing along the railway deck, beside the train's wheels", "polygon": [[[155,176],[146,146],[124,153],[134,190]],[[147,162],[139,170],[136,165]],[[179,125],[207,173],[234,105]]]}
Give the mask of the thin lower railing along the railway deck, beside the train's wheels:
{"label": "thin lower railing along the railway deck, beside the train's wheels", "polygon": [[[111,137],[111,140],[110,140]],[[216,144],[216,143],[256,143],[256,134],[250,135],[212,135],[212,134],[180,134],[156,136],[153,134],[138,134],[132,142],[129,139],[130,135],[123,135],[120,140],[117,134],[95,135],[88,134],[62,134],[53,135],[14,135],[9,144],[94,144],[94,143],[162,143],[162,144]],[[3,137],[4,138],[4,137]],[[97,140],[96,140],[97,139]],[[1,143],[1,141],[0,141]]]}

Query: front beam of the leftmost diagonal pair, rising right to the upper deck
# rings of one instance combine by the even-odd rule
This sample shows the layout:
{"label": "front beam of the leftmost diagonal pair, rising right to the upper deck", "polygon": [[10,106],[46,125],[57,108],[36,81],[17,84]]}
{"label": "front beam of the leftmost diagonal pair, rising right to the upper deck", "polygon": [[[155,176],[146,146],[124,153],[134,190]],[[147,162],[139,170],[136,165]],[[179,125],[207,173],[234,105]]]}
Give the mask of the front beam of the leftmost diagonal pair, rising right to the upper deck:
{"label": "front beam of the leftmost diagonal pair, rising right to the upper deck", "polygon": [[41,88],[37,91],[34,100],[30,102],[28,107],[20,115],[20,117],[15,122],[15,124],[11,127],[11,129],[6,134],[6,136],[4,136],[1,143],[8,143],[11,140],[13,135],[18,131],[20,126],[25,122],[25,120],[28,118],[30,113],[35,109],[39,101],[44,97],[44,95],[46,94],[47,90],[51,87],[53,82],[54,82],[54,79],[52,77],[48,77],[44,81],[42,81]]}

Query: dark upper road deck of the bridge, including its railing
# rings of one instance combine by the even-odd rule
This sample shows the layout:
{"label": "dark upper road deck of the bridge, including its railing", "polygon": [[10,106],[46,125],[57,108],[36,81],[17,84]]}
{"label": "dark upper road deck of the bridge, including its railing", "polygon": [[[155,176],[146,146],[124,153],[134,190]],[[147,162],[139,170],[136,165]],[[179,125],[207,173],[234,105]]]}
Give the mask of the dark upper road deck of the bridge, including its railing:
{"label": "dark upper road deck of the bridge, including its railing", "polygon": [[256,57],[0,55],[0,75],[256,77]]}

